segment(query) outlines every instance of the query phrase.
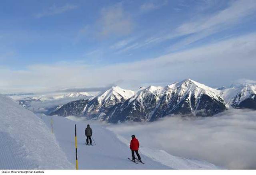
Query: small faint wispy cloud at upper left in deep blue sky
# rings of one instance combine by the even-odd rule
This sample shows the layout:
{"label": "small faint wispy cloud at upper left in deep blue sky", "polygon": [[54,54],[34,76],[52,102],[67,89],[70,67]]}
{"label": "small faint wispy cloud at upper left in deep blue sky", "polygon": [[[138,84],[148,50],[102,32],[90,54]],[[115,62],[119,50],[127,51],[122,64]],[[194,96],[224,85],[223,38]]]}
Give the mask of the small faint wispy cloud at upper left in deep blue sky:
{"label": "small faint wispy cloud at upper left in deep blue sky", "polygon": [[74,10],[78,8],[78,6],[76,5],[72,5],[72,4],[66,4],[64,6],[51,6],[45,10],[43,10],[43,12],[40,12],[38,14],[36,14],[36,18],[42,18],[44,16],[52,16],[52,15],[56,15],[56,14],[62,14],[64,12],[68,12],[70,10]]}

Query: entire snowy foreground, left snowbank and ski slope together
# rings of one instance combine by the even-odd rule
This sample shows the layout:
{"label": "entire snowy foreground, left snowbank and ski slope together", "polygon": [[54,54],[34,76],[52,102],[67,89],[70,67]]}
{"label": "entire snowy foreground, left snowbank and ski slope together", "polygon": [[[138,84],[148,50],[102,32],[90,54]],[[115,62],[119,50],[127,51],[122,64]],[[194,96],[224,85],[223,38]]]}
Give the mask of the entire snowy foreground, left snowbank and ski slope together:
{"label": "entire snowy foreground, left snowbank and ski slope together", "polygon": [[[108,130],[109,126],[82,118],[36,116],[0,95],[0,169],[75,169],[74,125],[77,125],[79,169],[216,169],[215,165],[175,157],[163,150],[140,148],[145,164],[135,164],[129,140]],[[85,145],[84,129],[90,123],[93,146]],[[47,127],[48,126],[48,127]],[[143,143],[141,143],[143,144]]]}

